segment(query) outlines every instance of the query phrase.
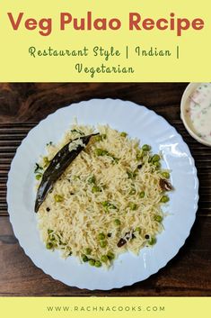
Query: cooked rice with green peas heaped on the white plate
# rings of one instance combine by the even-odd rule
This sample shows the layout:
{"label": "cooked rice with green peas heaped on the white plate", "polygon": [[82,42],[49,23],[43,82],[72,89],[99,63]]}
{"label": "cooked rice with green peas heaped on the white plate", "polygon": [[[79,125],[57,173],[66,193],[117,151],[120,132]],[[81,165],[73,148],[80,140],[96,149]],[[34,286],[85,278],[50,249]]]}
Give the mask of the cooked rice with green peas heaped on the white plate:
{"label": "cooked rice with green peas heaped on the white plate", "polygon": [[[72,254],[83,259],[87,248],[91,250],[87,259],[94,260],[101,260],[109,252],[116,257],[126,250],[138,253],[163,231],[162,222],[154,220],[157,215],[161,219],[164,216],[163,191],[159,186],[162,172],[149,162],[152,154],[144,155],[139,141],[110,126],[94,129],[73,125],[61,143],[48,145],[48,160],[67,142],[82,136],[82,132],[100,132],[101,141],[92,137],[41,204],[41,238],[46,244],[51,242],[53,250],[62,250],[64,257]],[[75,149],[75,144],[70,147]],[[108,155],[98,156],[96,149],[107,150]],[[44,166],[44,160],[40,164]],[[145,196],[141,197],[143,192]],[[55,195],[59,195],[61,202],[56,202]],[[100,233],[105,235],[105,247],[101,247]],[[127,243],[118,247],[122,238]],[[105,265],[110,266],[110,260]]]}

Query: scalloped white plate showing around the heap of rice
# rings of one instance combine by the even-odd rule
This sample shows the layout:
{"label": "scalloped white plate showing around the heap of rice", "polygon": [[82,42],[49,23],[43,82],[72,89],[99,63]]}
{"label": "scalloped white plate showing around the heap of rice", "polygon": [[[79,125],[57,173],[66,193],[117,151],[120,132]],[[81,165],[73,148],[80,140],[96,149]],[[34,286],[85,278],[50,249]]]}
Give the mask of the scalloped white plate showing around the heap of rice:
{"label": "scalloped white plate showing around the heap of rice", "polygon": [[[163,167],[170,168],[175,191],[164,219],[165,230],[158,235],[153,248],[145,248],[139,256],[124,253],[109,270],[80,264],[75,258],[61,259],[57,251],[46,250],[40,241],[36,214],[33,212],[34,164],[45,151],[48,141],[59,141],[75,117],[83,124],[110,124],[128,132],[154,152],[163,151]],[[198,208],[198,177],[189,148],[163,117],[144,106],[112,99],[92,99],[72,104],[50,114],[34,127],[22,141],[13,159],[7,183],[7,202],[13,231],[25,253],[34,264],[51,277],[69,286],[87,289],[111,289],[144,280],[163,268],[189,236]]]}

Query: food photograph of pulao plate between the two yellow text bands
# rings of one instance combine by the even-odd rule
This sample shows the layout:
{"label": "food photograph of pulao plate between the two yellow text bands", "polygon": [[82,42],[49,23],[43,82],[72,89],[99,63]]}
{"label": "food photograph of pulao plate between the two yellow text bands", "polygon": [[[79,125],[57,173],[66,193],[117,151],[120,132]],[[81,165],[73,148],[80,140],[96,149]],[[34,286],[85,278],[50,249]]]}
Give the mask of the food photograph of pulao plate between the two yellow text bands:
{"label": "food photograph of pulao plate between the two yellow text bands", "polygon": [[0,295],[211,295],[211,83],[0,83]]}

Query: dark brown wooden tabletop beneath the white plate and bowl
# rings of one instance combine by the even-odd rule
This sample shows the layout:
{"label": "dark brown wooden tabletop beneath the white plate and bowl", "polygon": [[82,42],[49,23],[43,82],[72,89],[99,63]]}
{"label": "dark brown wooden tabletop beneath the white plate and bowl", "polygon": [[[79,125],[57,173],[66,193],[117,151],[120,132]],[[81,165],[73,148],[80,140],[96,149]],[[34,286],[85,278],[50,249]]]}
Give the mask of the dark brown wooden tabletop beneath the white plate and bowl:
{"label": "dark brown wooden tabletop beneath the white plate and bowl", "polygon": [[[0,295],[211,295],[211,148],[194,141],[180,121],[180,97],[186,86],[184,83],[0,84]],[[197,219],[178,255],[144,282],[108,292],[65,286],[36,268],[13,235],[5,198],[11,161],[27,132],[57,108],[93,97],[130,100],[163,115],[189,144],[200,183]]]}

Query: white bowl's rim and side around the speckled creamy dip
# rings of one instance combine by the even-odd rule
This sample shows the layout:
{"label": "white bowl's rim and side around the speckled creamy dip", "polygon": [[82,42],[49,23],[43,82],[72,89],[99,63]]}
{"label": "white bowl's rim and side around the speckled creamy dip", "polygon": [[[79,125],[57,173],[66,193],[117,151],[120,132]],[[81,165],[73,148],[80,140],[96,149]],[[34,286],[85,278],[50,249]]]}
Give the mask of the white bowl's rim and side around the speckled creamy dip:
{"label": "white bowl's rim and side around the speckled creamy dip", "polygon": [[187,117],[185,116],[185,111],[187,109],[187,103],[189,102],[189,96],[193,94],[193,92],[197,89],[197,87],[201,83],[189,83],[189,85],[186,87],[180,102],[180,118],[182,122],[185,125],[185,128],[189,132],[189,134],[198,142],[203,143],[206,146],[211,147],[211,142],[205,141],[204,139],[198,137],[198,134],[194,132],[194,130],[191,128],[191,125],[189,121],[187,120]]}

